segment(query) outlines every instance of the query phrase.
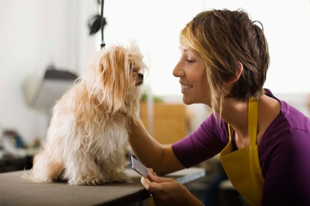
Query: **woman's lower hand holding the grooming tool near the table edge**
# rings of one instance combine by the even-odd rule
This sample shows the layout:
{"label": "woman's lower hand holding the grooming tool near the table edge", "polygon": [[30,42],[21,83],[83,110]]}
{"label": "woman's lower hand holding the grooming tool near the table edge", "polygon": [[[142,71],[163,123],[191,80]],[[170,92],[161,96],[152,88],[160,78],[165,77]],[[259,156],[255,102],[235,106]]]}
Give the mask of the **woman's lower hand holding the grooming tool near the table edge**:
{"label": "woman's lower hand holding the grooming tool near the table edge", "polygon": [[156,206],[202,206],[202,203],[192,195],[184,185],[171,178],[157,177],[150,169],[149,179],[141,177],[141,183],[153,194]]}

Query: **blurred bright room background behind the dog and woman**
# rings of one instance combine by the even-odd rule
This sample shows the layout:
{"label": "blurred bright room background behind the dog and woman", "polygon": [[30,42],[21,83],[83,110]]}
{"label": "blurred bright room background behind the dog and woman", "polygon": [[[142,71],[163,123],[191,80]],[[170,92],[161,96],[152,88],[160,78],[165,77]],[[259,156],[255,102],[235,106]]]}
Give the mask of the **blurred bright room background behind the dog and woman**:
{"label": "blurred bright room background behind the dog and woman", "polygon": [[[310,117],[310,0],[106,0],[105,42],[140,45],[149,67],[140,117],[162,144],[210,115],[182,103],[172,70],[180,30],[199,12],[223,8],[262,22],[271,58],[265,88]],[[0,159],[26,157],[0,161],[0,172],[31,167],[54,101],[100,49],[100,30],[91,32],[98,14],[100,0],[0,0]]]}

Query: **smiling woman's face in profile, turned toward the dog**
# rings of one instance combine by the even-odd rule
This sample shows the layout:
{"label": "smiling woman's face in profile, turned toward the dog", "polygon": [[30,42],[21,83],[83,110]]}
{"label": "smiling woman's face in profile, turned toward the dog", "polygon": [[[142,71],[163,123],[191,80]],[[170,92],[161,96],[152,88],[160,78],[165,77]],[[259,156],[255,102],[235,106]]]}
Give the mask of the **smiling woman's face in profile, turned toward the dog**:
{"label": "smiling woman's face in profile, turned toward the dog", "polygon": [[210,106],[210,92],[206,82],[205,66],[195,53],[180,46],[181,58],[173,75],[180,77],[181,92],[185,104],[204,103]]}

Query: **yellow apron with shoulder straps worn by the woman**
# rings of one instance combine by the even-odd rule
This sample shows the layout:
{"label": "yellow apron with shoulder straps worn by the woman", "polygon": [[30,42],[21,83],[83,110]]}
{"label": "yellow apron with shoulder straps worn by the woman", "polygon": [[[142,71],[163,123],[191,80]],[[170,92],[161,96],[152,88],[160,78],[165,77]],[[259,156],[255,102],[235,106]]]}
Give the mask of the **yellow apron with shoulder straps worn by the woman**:
{"label": "yellow apron with shoulder straps worn by the woman", "polygon": [[228,124],[229,142],[220,152],[219,159],[233,187],[243,195],[248,205],[260,206],[264,178],[258,157],[257,136],[258,101],[248,100],[249,146],[233,151],[233,128]]}

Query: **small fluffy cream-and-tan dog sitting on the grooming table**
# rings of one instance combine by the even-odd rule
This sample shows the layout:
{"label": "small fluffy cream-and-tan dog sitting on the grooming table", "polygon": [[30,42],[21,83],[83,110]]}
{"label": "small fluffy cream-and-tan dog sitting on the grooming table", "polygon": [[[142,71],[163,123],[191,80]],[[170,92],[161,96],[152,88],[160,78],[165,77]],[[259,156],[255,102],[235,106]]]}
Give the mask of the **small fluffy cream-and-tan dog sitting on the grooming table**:
{"label": "small fluffy cream-and-tan dog sitting on the grooming table", "polygon": [[127,124],[138,120],[142,59],[134,44],[95,53],[83,76],[55,104],[46,145],[23,179],[70,185],[131,182],[124,172]]}

